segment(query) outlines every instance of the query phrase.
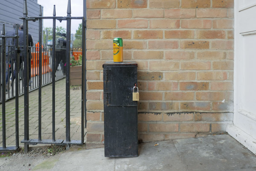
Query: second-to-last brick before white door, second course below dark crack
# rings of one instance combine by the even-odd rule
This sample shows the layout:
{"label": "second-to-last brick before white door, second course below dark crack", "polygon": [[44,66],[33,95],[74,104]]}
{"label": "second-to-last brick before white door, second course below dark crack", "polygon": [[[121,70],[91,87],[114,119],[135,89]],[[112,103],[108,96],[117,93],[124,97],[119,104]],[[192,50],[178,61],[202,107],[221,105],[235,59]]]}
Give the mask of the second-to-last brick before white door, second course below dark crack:
{"label": "second-to-last brick before white door, second course below dark crack", "polygon": [[180,124],[180,132],[209,132],[210,124]]}

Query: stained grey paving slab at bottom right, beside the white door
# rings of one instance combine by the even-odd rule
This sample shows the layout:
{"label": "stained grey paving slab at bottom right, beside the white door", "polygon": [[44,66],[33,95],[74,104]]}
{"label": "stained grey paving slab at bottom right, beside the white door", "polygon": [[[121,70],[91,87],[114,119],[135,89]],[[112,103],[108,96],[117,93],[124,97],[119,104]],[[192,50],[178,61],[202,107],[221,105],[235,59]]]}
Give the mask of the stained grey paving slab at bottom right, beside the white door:
{"label": "stained grey paving slab at bottom right, beside the white door", "polygon": [[188,171],[256,168],[255,155],[229,135],[179,139],[174,140],[174,144]]}

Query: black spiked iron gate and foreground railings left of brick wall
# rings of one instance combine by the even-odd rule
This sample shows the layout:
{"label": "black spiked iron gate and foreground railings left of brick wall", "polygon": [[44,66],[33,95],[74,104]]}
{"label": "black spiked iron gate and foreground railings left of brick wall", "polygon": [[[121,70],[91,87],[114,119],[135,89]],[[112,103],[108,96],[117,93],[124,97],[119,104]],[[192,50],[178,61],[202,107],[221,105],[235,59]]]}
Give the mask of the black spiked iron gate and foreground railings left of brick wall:
{"label": "black spiked iron gate and foreground railings left of brick wall", "polygon": [[[23,56],[24,56],[24,139],[21,140],[24,143],[24,151],[29,151],[29,145],[36,144],[58,144],[58,145],[82,145],[84,143],[84,126],[86,128],[86,44],[85,44],[85,29],[86,29],[86,20],[84,17],[71,17],[71,3],[68,0],[67,5],[67,17],[57,17],[55,12],[55,6],[53,9],[52,17],[43,17],[41,12],[41,6],[39,6],[39,16],[37,17],[28,17],[27,12],[27,3],[26,0],[23,1],[23,17],[20,19],[23,20]],[[53,21],[53,32],[52,32],[52,139],[42,139],[41,135],[41,118],[42,118],[42,20],[43,19],[52,19]],[[71,140],[70,139],[70,37],[71,37],[71,20],[81,20],[82,22],[82,88],[81,88],[81,140]],[[28,43],[28,22],[29,21],[39,21],[39,74],[38,74],[38,139],[29,139],[29,43]],[[56,50],[56,42],[55,42],[55,28],[56,28],[56,20],[67,21],[67,46],[66,46],[66,139],[55,139],[55,50]],[[16,29],[17,30],[17,29]],[[2,38],[2,82],[5,82],[5,63],[6,59],[6,49],[5,49],[5,31],[3,26],[3,36]],[[18,30],[16,31],[16,35],[9,38],[15,38],[18,42]],[[18,43],[16,43],[18,44]],[[11,51],[12,52],[12,51]],[[15,68],[19,68],[19,58],[18,54],[20,53],[18,45],[13,49],[13,53],[15,53]],[[18,78],[18,72],[16,72],[16,78]],[[18,90],[19,81],[15,82],[15,88]],[[5,107],[5,84],[3,84],[2,88],[2,120],[3,120],[3,147],[0,148],[0,151],[8,151],[15,150],[19,147],[19,130],[18,130],[18,122],[19,122],[19,100],[18,100],[18,91],[16,91],[15,96],[15,132],[16,132],[16,146],[15,147],[6,147],[6,128],[5,128],[5,116],[6,116],[6,107]]]}

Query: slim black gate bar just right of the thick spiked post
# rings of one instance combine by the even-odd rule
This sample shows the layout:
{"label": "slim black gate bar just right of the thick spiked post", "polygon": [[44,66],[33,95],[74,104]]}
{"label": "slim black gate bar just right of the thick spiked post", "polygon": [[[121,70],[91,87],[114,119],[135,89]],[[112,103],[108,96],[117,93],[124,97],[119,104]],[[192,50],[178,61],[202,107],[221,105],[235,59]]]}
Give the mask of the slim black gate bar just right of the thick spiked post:
{"label": "slim black gate bar just right of the thick spiked post", "polygon": [[[41,5],[39,6],[39,16],[42,16]],[[42,140],[42,19],[39,18],[39,82],[38,82],[38,141]]]}

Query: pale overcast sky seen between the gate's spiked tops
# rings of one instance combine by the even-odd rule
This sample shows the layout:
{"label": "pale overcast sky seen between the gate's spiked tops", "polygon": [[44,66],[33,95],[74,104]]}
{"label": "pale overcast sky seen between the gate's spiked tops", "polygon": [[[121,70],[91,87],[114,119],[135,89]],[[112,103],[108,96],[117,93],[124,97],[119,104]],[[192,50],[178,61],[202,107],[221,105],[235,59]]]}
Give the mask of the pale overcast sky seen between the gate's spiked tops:
{"label": "pale overcast sky seen between the gate's spiked tops", "polygon": [[[67,3],[68,0],[38,0],[38,4],[43,6],[44,17],[52,17],[53,5],[55,5],[56,16],[66,17],[67,16]],[[82,17],[83,16],[83,0],[71,0],[71,17]],[[71,20],[71,34],[76,33],[81,20]],[[52,20],[44,19],[44,27],[52,27]],[[61,23],[56,20],[56,26],[62,26],[67,28],[67,22],[62,21]]]}

